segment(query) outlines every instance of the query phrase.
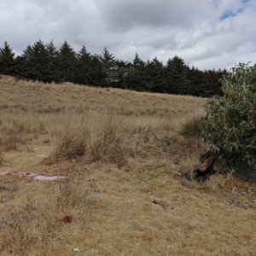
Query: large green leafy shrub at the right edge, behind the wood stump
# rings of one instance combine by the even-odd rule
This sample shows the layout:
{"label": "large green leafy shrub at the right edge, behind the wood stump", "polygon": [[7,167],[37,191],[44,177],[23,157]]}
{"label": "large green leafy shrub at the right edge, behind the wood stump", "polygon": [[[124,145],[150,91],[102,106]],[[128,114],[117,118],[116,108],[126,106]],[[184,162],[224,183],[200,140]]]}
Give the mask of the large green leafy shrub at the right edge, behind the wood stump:
{"label": "large green leafy shrub at the right edge, behind the wood stump", "polygon": [[224,96],[204,106],[207,124],[202,137],[224,148],[224,157],[256,168],[256,65],[240,63],[221,79]]}

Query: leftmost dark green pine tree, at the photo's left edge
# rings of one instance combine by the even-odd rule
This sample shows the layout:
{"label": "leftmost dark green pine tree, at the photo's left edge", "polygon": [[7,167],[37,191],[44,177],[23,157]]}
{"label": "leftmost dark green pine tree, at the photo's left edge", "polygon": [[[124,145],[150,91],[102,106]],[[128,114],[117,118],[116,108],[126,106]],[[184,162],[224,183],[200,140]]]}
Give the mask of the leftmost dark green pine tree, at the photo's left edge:
{"label": "leftmost dark green pine tree, at the photo's left edge", "polygon": [[7,41],[3,48],[0,48],[0,73],[15,75],[15,53]]}

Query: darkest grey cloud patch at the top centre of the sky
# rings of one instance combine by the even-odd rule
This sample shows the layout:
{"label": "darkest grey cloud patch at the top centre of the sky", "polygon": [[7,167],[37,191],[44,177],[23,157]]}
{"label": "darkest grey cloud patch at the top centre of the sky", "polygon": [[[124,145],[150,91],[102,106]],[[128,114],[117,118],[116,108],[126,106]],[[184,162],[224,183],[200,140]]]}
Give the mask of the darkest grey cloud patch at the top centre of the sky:
{"label": "darkest grey cloud patch at the top centre of the sky", "polygon": [[[126,31],[137,26],[153,27],[188,27],[194,22],[193,16],[203,11],[201,1],[168,0],[96,0],[96,7],[101,11],[102,19],[115,30]],[[189,10],[189,11],[188,11]]]}

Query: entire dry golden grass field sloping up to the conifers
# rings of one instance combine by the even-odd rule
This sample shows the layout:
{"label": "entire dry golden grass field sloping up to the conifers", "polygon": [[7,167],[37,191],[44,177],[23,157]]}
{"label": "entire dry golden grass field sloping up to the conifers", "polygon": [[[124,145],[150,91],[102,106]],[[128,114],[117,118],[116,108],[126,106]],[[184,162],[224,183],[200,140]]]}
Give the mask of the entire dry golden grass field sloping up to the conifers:
{"label": "entire dry golden grass field sloping up to the conifers", "polygon": [[0,172],[71,177],[0,176],[0,255],[255,255],[255,184],[184,177],[207,149],[195,126],[206,99],[3,80],[0,91]]}

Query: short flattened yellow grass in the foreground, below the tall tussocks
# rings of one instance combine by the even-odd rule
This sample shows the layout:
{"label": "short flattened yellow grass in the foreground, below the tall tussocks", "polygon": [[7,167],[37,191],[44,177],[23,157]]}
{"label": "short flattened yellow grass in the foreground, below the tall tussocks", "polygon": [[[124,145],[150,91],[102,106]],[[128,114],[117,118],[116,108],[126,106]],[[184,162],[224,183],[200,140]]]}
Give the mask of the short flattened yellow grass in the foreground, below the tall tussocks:
{"label": "short flattened yellow grass in the foreground, below the tall tussocks", "polygon": [[[8,199],[0,203],[4,228],[0,255],[255,252],[253,209],[232,205],[225,197],[232,190],[218,191],[216,179],[212,187],[189,183],[171,174],[172,164],[158,160],[137,163],[130,172],[102,163],[85,165],[82,160],[48,164],[37,156],[50,154],[50,144],[43,141],[45,136],[32,138],[18,151],[3,152],[0,172],[68,174],[73,179],[60,186],[28,182],[14,174],[0,177],[5,184],[1,198]],[[233,192],[238,194],[239,188]],[[252,187],[250,193],[254,192]],[[73,222],[63,224],[65,215]],[[77,247],[79,252],[74,253]]]}

